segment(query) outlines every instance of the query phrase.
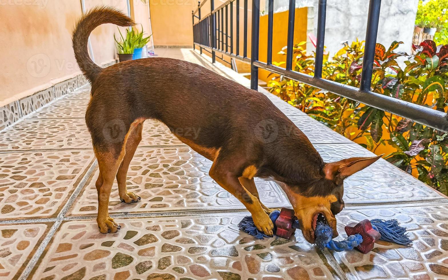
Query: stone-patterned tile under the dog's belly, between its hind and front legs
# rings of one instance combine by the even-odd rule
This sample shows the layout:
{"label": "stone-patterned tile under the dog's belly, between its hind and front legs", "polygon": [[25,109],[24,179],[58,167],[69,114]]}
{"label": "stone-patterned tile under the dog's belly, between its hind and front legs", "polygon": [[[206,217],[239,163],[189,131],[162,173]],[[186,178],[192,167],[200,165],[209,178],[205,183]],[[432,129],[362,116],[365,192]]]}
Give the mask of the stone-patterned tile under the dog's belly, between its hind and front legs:
{"label": "stone-patterned tile under the dog's belly, between its hind and front legs", "polygon": [[[211,161],[190,148],[138,148],[128,172],[130,191],[142,197],[141,202],[124,203],[112,186],[110,213],[141,211],[185,211],[245,209],[226,190],[208,176]],[[82,193],[73,203],[70,215],[95,215],[98,194],[92,173]],[[261,201],[268,207],[288,206],[289,202],[273,182],[257,181]]]}

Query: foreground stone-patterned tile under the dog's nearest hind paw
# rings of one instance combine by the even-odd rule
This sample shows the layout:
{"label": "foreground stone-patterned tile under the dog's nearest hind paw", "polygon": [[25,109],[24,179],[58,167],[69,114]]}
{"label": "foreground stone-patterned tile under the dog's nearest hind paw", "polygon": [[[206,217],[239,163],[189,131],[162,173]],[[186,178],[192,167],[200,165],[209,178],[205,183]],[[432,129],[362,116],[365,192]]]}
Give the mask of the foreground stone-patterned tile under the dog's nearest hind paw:
{"label": "foreground stone-patterned tile under the dog's nearest hind paw", "polygon": [[[248,213],[248,212],[246,212]],[[115,234],[95,220],[61,225],[31,279],[333,279],[321,253],[295,238],[240,233],[246,213],[116,219]],[[300,243],[296,243],[299,241]],[[329,268],[330,269],[329,269]],[[86,278],[82,278],[87,276]],[[92,277],[92,278],[90,278]]]}

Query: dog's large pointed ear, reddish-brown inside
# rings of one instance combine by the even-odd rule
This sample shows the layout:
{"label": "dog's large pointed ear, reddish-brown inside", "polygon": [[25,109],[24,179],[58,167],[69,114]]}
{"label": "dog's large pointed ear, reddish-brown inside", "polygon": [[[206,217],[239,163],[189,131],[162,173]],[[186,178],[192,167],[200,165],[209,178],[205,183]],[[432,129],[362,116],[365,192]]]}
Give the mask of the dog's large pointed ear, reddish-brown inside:
{"label": "dog's large pointed ear, reddish-brown inside", "polygon": [[373,164],[382,156],[356,157],[325,164],[323,168],[325,178],[335,181],[336,185],[340,185],[345,178]]}

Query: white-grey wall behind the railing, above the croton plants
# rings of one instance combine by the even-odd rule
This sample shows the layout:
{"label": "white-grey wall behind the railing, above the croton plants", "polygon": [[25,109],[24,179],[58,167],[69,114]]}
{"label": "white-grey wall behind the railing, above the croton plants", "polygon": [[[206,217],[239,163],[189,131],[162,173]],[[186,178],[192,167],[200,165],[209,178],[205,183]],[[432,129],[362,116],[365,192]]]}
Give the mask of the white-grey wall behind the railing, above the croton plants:
{"label": "white-grey wall behind the railing, above the croton plants", "polygon": [[[274,11],[287,10],[288,3],[288,0],[274,0]],[[377,42],[387,48],[395,40],[403,41],[398,50],[410,52],[417,4],[418,0],[382,0]],[[296,0],[296,7],[314,7],[314,21],[313,15],[308,16],[309,24],[314,25],[314,35],[317,35],[318,5],[319,0]],[[368,10],[369,0],[327,0],[325,46],[330,55],[342,47],[341,41],[365,39]]]}

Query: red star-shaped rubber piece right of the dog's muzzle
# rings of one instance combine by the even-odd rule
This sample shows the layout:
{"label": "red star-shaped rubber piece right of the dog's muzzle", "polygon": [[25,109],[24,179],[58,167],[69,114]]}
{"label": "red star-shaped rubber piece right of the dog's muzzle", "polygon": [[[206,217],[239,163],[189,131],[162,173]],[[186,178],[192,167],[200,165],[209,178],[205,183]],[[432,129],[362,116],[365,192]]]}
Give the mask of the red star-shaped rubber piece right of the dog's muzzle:
{"label": "red star-shaped rubber piece right of the dog's muzzle", "polygon": [[347,235],[353,235],[356,233],[361,234],[362,243],[359,244],[356,249],[360,250],[363,254],[369,253],[373,249],[375,241],[381,237],[381,234],[372,228],[372,224],[370,224],[369,220],[362,220],[358,224],[348,224],[345,226],[345,232]]}

